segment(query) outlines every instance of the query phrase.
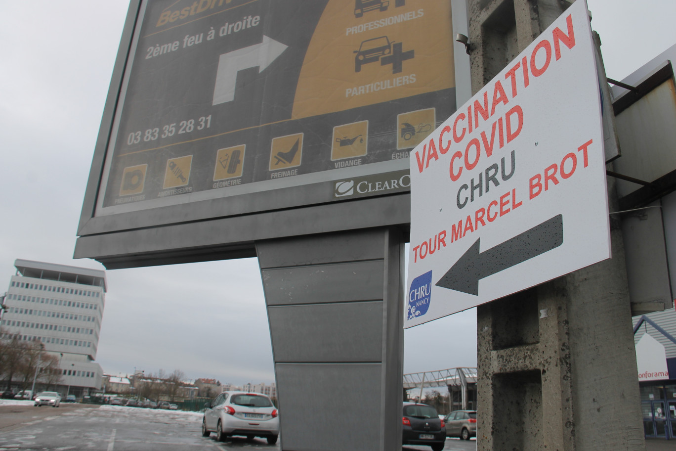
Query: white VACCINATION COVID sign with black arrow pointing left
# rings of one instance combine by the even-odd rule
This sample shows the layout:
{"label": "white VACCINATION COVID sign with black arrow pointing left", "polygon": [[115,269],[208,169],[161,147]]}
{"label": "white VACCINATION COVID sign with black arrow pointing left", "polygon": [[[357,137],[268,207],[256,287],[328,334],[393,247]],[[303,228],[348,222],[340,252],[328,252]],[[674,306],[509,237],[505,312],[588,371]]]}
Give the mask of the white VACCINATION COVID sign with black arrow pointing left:
{"label": "white VACCINATION COVID sign with black arrow pointing left", "polygon": [[411,152],[405,327],[610,257],[598,86],[577,0]]}

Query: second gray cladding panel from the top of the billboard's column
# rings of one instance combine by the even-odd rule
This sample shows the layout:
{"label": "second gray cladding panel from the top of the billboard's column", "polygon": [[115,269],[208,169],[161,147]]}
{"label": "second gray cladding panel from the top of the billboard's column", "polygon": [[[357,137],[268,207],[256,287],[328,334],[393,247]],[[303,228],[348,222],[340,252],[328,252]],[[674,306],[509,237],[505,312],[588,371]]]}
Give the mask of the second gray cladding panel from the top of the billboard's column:
{"label": "second gray cladding panel from the top of the billboard's column", "polygon": [[268,306],[383,299],[383,260],[262,270]]}

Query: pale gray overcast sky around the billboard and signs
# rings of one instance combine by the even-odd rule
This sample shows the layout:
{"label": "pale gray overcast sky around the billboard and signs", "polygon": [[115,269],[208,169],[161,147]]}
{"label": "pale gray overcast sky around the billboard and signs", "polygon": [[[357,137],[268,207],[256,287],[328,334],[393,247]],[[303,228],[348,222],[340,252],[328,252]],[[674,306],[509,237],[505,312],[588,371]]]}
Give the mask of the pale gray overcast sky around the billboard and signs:
{"label": "pale gray overcast sky around the billboard and signs", "polygon": [[[674,0],[587,3],[610,78],[676,43]],[[103,269],[72,254],[127,7],[0,0],[0,292],[16,258]],[[111,270],[107,284],[105,373],[274,381],[256,259]],[[404,372],[476,366],[475,326],[472,309],[408,329]]]}

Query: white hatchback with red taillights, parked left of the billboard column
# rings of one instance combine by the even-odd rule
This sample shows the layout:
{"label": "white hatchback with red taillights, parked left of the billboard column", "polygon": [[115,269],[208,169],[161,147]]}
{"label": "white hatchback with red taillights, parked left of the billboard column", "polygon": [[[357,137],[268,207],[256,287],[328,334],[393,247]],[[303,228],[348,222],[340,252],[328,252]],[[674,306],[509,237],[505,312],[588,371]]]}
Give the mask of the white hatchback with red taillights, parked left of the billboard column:
{"label": "white hatchback with red taillights, parked left of the billboard column", "polygon": [[265,437],[270,445],[277,442],[279,411],[266,395],[224,391],[204,407],[203,437],[216,432],[219,442],[231,435],[244,435],[247,440]]}

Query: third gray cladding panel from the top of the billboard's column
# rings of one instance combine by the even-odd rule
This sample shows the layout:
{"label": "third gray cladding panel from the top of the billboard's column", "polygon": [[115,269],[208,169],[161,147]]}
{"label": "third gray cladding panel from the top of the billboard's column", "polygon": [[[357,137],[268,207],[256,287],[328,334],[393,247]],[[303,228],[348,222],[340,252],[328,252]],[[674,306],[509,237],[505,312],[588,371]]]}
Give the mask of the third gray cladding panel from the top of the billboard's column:
{"label": "third gray cladding panel from the top of the billboard's column", "polygon": [[380,362],[383,302],[268,308],[276,362]]}

